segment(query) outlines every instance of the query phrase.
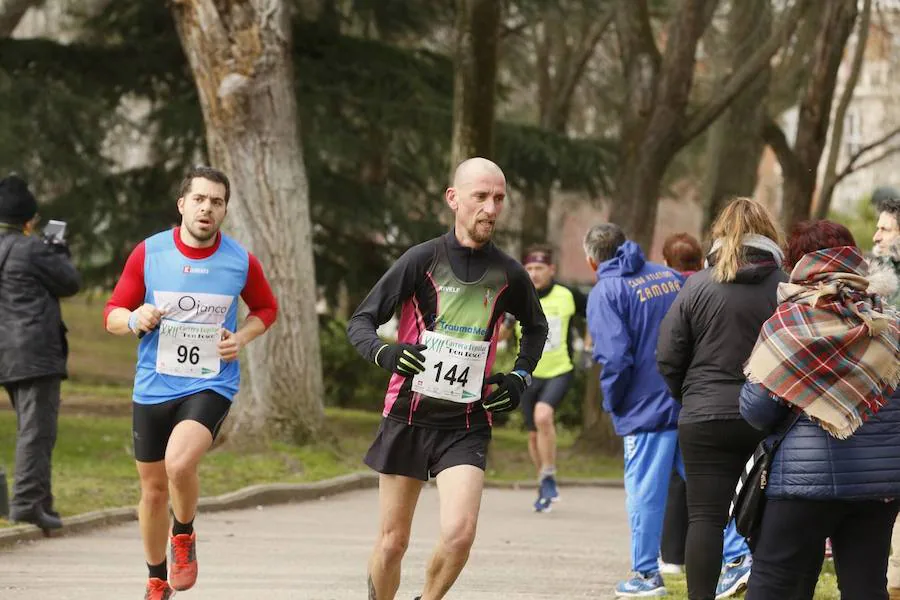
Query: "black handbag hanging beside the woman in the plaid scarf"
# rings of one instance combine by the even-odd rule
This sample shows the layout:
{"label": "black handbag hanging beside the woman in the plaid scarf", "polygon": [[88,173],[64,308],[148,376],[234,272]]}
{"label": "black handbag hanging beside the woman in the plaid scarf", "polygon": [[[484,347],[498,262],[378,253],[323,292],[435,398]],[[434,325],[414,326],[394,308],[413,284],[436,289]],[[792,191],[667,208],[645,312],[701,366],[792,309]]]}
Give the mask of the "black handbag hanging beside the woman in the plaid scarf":
{"label": "black handbag hanging beside the woman in the plaid scarf", "polygon": [[734,519],[737,532],[745,538],[752,538],[759,529],[766,503],[766,486],[769,483],[772,458],[801,415],[802,413],[791,415],[781,424],[771,446],[766,445],[766,440],[761,441],[744,466],[731,501],[731,518]]}

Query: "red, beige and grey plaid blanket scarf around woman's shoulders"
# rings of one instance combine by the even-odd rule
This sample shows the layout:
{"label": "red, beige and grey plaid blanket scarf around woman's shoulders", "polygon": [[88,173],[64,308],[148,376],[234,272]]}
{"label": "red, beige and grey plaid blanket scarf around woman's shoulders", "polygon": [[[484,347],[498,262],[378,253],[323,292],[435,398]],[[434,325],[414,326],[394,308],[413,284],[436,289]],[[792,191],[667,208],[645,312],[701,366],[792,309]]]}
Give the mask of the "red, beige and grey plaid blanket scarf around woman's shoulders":
{"label": "red, beige and grey plaid blanket scarf around woman's shoulders", "polygon": [[898,314],[866,294],[868,267],[853,246],[806,254],[778,287],[745,373],[844,439],[900,383]]}

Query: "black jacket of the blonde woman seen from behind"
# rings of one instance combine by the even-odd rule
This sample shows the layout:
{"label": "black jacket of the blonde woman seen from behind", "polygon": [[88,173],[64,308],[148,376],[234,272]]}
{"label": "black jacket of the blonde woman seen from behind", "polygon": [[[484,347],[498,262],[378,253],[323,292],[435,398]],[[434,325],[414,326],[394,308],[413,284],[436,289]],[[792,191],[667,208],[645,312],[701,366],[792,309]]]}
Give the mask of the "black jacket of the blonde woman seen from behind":
{"label": "black jacket of the blonde woman seen from behind", "polygon": [[741,418],[744,363],[778,306],[778,284],[787,280],[774,261],[742,267],[730,283],[715,281],[711,268],[688,278],[656,348],[659,372],[682,403],[679,423]]}

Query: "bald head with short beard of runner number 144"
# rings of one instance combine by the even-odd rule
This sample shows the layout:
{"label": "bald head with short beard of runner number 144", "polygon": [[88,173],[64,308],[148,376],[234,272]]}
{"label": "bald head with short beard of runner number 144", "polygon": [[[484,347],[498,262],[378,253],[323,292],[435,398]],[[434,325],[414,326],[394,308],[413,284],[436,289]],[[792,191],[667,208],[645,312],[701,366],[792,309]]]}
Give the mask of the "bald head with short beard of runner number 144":
{"label": "bald head with short beard of runner number 144", "polygon": [[491,240],[503,211],[506,177],[486,158],[464,160],[453,173],[446,199],[456,215],[457,239],[465,246],[481,247]]}

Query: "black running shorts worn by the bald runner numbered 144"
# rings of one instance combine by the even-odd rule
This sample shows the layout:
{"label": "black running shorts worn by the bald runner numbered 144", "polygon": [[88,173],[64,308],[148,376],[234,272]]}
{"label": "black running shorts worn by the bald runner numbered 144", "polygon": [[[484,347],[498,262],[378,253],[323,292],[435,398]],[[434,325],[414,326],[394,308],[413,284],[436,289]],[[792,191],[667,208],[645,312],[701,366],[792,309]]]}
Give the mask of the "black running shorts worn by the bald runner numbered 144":
{"label": "black running shorts worn by the bald runner numbered 144", "polygon": [[487,467],[490,426],[474,429],[430,429],[382,419],[365,463],[384,475],[422,481],[458,465]]}

